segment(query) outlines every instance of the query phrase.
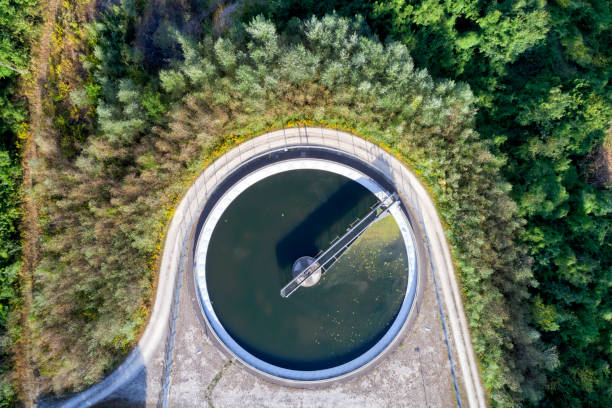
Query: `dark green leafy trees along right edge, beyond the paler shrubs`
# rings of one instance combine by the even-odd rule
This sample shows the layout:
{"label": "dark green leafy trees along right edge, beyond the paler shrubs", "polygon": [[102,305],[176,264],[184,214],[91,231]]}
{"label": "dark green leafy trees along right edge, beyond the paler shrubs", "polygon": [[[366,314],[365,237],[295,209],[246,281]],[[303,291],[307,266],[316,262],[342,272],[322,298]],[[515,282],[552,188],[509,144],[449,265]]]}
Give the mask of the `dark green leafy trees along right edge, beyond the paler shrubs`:
{"label": "dark green leafy trees along right edge, beyond the paler shrubs", "polygon": [[[418,36],[439,25],[417,22],[423,28],[414,35],[408,27],[415,23],[398,20],[396,6],[381,3],[375,13],[392,10],[392,34],[411,37],[414,49],[424,50]],[[448,61],[441,73],[470,83],[481,100],[479,129],[499,144],[498,155],[507,157],[504,173],[519,213],[528,220],[522,239],[538,281],[531,290],[533,314],[559,358],[541,403],[608,406],[612,197],[586,182],[582,158],[601,145],[612,113],[610,48],[603,46],[611,39],[605,24],[609,4],[498,7],[485,13],[444,10],[442,20],[454,20],[443,36],[452,45],[444,48],[457,62],[435,47],[415,55],[428,67]],[[467,24],[457,25],[460,19],[470,21],[469,31],[461,29]],[[503,34],[499,23],[504,19],[519,30],[513,37],[520,47],[502,41],[503,47],[491,53],[492,33]],[[477,39],[470,48],[463,47],[467,36]]]}

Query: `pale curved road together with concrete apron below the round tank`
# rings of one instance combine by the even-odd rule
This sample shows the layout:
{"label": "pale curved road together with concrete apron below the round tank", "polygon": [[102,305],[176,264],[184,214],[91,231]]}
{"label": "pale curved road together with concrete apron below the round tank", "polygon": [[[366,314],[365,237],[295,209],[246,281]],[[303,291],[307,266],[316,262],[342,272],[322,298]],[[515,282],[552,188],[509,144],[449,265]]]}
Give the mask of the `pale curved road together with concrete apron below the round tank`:
{"label": "pale curved road together with concrete apron below the round tank", "polygon": [[[268,383],[230,363],[208,341],[188,285],[181,285],[177,318],[171,305],[185,225],[213,186],[227,172],[251,155],[283,144],[319,144],[354,153],[389,174],[404,190],[404,199],[416,203],[425,229],[428,251],[433,255],[442,310],[446,316],[450,352],[463,406],[485,406],[461,297],[450,252],[435,208],[414,175],[377,146],[352,135],[327,129],[287,129],[253,139],[217,160],[196,181],[175,212],[168,231],[160,271],[160,283],[151,321],[138,347],[109,378],[82,393],[66,406],[159,406],[162,384],[167,382],[167,406],[274,407],[274,406],[456,406],[449,352],[445,344],[434,275],[428,272],[424,298],[413,328],[402,345],[384,362],[362,377],[316,390],[287,388]],[[182,279],[191,278],[184,274]],[[170,323],[169,323],[170,322]],[[164,375],[168,328],[176,323],[170,376]],[[143,370],[144,367],[144,370]],[[135,379],[134,379],[135,378]]]}

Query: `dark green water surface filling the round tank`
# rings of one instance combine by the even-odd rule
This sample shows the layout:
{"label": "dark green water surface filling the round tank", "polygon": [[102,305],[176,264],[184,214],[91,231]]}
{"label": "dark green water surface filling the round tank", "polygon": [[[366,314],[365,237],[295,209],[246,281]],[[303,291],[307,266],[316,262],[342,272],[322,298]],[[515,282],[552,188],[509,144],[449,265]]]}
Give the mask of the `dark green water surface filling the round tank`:
{"label": "dark green water surface filling the round tank", "polygon": [[360,184],[318,170],[280,173],[243,192],[217,224],[206,260],[210,299],[228,333],[256,357],[297,370],[337,366],[376,343],[407,281],[391,217],[366,231],[317,285],[279,294],[297,258],[327,247],[375,201]]}

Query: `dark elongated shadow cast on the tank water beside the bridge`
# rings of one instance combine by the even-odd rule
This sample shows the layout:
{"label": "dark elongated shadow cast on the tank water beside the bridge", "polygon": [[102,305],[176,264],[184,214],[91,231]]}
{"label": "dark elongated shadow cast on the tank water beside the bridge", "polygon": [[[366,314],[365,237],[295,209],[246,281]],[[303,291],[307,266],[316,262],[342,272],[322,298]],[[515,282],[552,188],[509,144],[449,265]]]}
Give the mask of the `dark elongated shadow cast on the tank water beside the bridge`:
{"label": "dark elongated shadow cast on the tank water beside the bridge", "polygon": [[[363,197],[364,190],[365,188],[360,184],[352,180],[347,181],[327,201],[308,214],[276,244],[276,259],[279,266],[286,268],[301,256],[315,256],[321,249],[317,246],[317,238],[329,232],[330,226],[346,218],[346,214],[355,212],[357,207],[363,203],[360,199]],[[374,202],[374,198],[372,201]],[[339,227],[338,231],[334,232],[344,233],[346,227],[348,224]]]}

